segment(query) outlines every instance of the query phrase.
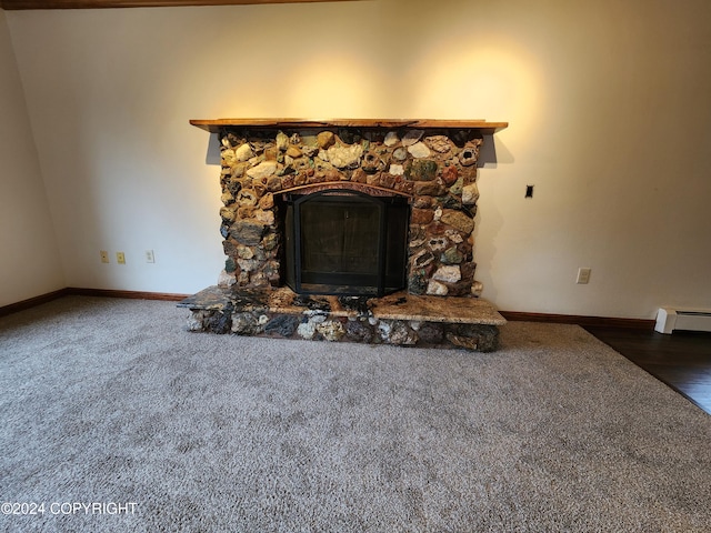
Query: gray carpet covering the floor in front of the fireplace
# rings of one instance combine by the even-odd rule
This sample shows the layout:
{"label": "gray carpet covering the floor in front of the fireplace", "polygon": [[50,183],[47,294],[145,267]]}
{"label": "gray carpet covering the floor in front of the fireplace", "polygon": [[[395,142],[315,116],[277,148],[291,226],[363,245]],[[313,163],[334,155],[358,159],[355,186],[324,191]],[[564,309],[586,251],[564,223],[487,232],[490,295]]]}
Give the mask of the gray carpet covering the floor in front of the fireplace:
{"label": "gray carpet covering the floor in front of the fireplace", "polygon": [[0,501],[44,504],[0,530],[709,531],[711,418],[578,326],[509,323],[480,354],[186,318],[0,319]]}

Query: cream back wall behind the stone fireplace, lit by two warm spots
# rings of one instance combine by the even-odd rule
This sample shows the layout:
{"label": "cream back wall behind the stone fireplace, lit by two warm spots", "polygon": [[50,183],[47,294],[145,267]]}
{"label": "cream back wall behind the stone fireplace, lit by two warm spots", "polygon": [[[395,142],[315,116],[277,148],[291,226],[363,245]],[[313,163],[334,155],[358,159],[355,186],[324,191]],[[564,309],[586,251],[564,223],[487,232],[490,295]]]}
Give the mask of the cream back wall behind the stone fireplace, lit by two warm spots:
{"label": "cream back wall behind the stone fireplace, lit by two warm spots", "polygon": [[[216,282],[219,168],[189,119],[484,118],[511,124],[480,171],[484,298],[645,319],[662,304],[711,306],[708,0],[7,18],[69,285],[187,293]],[[101,264],[100,249],[129,264]],[[578,266],[592,268],[590,284],[574,283]]]}

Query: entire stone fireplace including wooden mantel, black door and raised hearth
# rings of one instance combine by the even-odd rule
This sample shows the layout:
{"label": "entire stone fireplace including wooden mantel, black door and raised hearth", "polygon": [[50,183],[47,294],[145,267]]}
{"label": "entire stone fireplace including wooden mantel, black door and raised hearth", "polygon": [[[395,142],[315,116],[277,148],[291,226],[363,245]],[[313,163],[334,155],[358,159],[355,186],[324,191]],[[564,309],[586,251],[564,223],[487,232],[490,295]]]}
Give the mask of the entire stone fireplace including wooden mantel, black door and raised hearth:
{"label": "entire stone fireplace including wooden mantel, black door and raised hearth", "polygon": [[191,329],[495,349],[472,231],[483,135],[507,123],[191,123],[219,138],[227,255],[181,303]]}

